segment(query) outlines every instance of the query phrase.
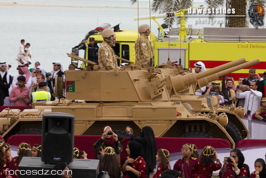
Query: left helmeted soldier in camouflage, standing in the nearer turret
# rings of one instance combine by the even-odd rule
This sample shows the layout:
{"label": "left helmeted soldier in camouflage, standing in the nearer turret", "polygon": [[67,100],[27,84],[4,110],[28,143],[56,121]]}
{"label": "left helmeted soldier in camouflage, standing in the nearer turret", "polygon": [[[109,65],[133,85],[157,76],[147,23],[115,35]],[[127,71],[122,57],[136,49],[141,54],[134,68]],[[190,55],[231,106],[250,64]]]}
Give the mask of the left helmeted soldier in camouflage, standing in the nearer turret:
{"label": "left helmeted soldier in camouflage, standing in the nearer turret", "polygon": [[98,61],[100,70],[120,70],[117,66],[117,58],[112,49],[115,46],[115,33],[112,29],[104,29],[102,31],[103,42],[98,50]]}

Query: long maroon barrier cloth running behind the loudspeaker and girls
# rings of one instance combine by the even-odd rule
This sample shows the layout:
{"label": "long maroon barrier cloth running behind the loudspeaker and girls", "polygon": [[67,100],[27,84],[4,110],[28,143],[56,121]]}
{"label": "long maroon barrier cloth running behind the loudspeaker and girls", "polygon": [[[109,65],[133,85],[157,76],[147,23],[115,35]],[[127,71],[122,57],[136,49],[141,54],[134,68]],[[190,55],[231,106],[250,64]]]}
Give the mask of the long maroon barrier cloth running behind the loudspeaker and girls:
{"label": "long maroon barrier cloth running behind the loudspeaker and girls", "polygon": [[[88,159],[95,159],[96,155],[93,150],[93,144],[100,138],[99,135],[75,135],[74,147],[81,151],[88,153]],[[198,149],[203,149],[206,145],[214,148],[230,148],[230,143],[224,139],[196,139],[196,138],[167,138],[156,137],[157,149],[167,149],[170,153],[180,152],[182,145],[191,143],[197,145]],[[130,137],[121,141],[123,151],[120,158],[126,157],[126,146]],[[18,146],[20,143],[26,142],[33,146],[34,144],[41,144],[41,135],[13,135],[9,137],[7,143],[13,146]]]}

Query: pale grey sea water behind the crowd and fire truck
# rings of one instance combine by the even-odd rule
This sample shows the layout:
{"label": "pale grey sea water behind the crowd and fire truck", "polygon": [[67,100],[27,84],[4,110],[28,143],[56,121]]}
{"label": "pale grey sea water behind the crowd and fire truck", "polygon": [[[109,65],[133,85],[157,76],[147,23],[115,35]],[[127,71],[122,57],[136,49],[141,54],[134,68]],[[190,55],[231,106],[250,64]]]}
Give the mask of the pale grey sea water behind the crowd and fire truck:
{"label": "pale grey sea water behind the crowd and fire truck", "polygon": [[[152,1],[152,0],[151,0]],[[27,5],[65,5],[65,6],[100,6],[102,8],[77,7],[29,7],[0,6],[0,61],[12,65],[12,76],[18,74],[15,61],[20,40],[31,44],[32,64],[39,61],[47,72],[52,70],[52,62],[60,60],[64,69],[68,69],[72,48],[84,39],[85,35],[102,23],[112,26],[120,24],[120,30],[136,30],[138,22],[133,17],[138,15],[137,5],[131,5],[129,0],[2,0],[1,2]],[[194,2],[193,6],[205,5],[204,2]],[[127,7],[127,8],[104,8]],[[131,8],[133,7],[133,8]],[[149,1],[139,0],[139,15],[149,15]],[[206,7],[206,5],[205,5]],[[157,14],[152,12],[152,14]],[[186,23],[193,28],[219,26],[219,24],[194,24],[196,17],[190,17]],[[163,19],[157,19],[162,24]],[[140,24],[149,20],[139,21]],[[152,31],[157,35],[158,26],[151,22]],[[179,26],[175,26],[179,27]],[[84,55],[80,51],[80,57]]]}

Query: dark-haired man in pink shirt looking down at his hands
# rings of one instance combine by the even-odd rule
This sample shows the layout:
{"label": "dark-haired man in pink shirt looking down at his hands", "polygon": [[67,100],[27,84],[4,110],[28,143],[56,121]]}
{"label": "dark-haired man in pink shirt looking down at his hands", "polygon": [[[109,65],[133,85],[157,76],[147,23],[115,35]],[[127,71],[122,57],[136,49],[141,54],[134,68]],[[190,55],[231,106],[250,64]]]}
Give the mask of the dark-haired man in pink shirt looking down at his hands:
{"label": "dark-haired man in pink shirt looking down at his hands", "polygon": [[30,89],[25,86],[26,78],[19,76],[17,78],[18,86],[12,89],[9,102],[15,102],[14,106],[29,106],[31,100],[29,99]]}

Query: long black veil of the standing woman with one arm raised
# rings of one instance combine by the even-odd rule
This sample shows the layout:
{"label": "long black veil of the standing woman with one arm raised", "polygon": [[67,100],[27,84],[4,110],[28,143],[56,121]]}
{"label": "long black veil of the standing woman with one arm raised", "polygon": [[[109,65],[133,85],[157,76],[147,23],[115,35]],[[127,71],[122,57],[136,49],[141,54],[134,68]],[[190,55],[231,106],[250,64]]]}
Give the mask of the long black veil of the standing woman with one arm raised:
{"label": "long black veil of the standing woman with one arm raised", "polygon": [[153,130],[150,126],[145,126],[142,128],[142,132],[140,133],[140,137],[145,139],[146,144],[143,145],[143,149],[145,152],[145,161],[146,165],[149,168],[149,171],[153,171],[156,165],[156,154],[157,154],[157,146],[155,142],[155,137]]}

